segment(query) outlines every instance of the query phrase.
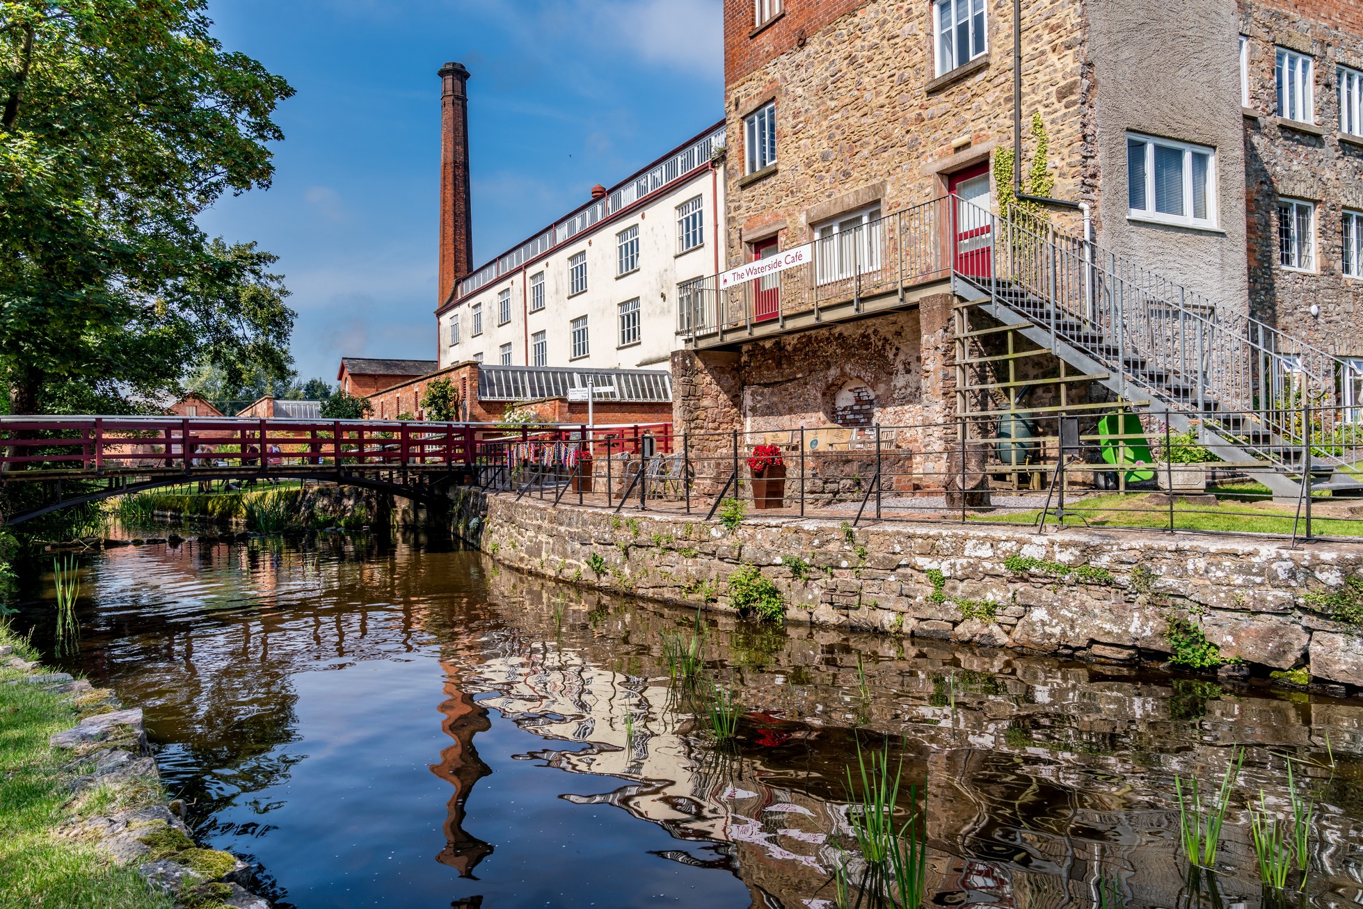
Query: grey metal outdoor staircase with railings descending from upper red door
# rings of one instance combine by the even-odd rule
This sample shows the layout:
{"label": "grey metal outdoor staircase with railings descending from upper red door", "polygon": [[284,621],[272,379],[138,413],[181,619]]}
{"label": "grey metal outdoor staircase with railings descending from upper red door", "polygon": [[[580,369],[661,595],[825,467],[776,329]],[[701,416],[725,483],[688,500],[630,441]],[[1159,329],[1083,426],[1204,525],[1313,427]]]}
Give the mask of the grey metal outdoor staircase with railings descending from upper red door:
{"label": "grey metal outdoor staircase with railings descending from upper red door", "polygon": [[[973,230],[955,253],[953,288],[1005,324],[1017,324],[1127,401],[1197,428],[1199,444],[1277,497],[1363,493],[1352,425],[1332,354],[1213,301],[1122,256],[1037,221],[953,198],[955,224]],[[1363,439],[1363,432],[1359,433]]]}

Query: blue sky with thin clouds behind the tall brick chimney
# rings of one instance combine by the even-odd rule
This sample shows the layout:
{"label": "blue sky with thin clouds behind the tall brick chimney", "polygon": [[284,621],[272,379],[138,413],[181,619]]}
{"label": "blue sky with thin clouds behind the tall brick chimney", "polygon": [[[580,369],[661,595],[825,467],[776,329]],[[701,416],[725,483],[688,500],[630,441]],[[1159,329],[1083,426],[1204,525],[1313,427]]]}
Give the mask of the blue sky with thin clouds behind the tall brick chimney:
{"label": "blue sky with thin clouds behind the tall brick chimney", "polygon": [[214,0],[215,33],[297,94],[274,185],[202,222],[256,240],[304,379],[433,358],[440,80],[469,80],[473,256],[491,259],[724,113],[721,0]]}

